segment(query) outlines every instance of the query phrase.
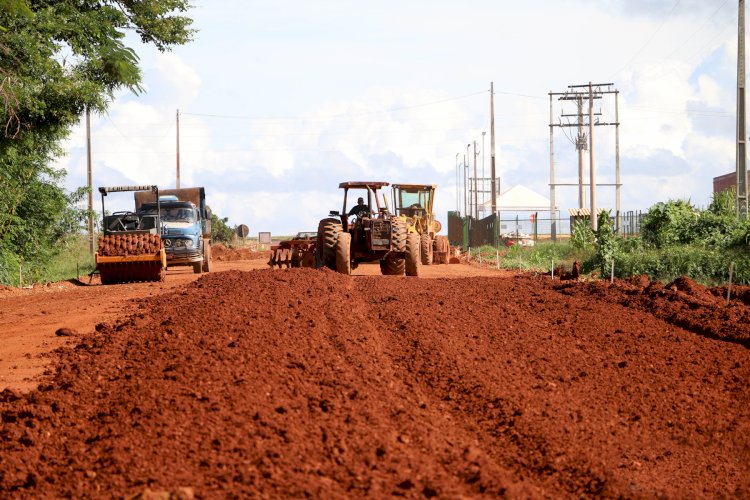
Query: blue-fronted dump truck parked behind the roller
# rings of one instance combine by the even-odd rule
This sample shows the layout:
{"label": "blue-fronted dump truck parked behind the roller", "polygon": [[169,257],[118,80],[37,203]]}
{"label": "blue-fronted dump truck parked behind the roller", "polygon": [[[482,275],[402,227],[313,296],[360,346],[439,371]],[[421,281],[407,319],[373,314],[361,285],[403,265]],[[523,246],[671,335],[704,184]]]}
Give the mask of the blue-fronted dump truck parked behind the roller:
{"label": "blue-fronted dump truck parked behind the roller", "polygon": [[194,273],[209,272],[211,257],[211,209],[202,187],[136,192],[139,216],[159,216],[167,267],[191,266]]}

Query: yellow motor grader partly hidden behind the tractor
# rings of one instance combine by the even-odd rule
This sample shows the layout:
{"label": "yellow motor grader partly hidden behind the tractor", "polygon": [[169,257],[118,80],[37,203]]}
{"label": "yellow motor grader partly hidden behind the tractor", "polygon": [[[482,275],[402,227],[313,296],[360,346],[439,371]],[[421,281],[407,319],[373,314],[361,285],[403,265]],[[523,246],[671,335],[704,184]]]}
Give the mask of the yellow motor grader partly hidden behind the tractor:
{"label": "yellow motor grader partly hidden behind the tractor", "polygon": [[434,184],[393,184],[393,210],[404,221],[408,232],[419,235],[419,254],[422,264],[447,264],[450,243],[437,233],[442,224],[435,218]]}

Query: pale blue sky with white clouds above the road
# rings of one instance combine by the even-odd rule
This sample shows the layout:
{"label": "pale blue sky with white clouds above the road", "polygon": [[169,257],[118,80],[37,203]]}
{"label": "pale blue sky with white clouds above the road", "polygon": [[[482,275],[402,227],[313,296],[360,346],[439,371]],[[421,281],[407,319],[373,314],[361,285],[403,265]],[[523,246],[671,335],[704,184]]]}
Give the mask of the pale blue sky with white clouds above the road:
{"label": "pale blue sky with white clouds above the road", "polygon": [[[345,180],[437,184],[445,220],[462,208],[456,154],[476,140],[489,175],[491,81],[502,189],[549,196],[548,92],[589,81],[620,91],[623,210],[705,205],[711,179],[734,169],[736,1],[203,0],[190,15],[195,41],[170,53],[133,39],[147,92],[92,118],[95,186],[173,187],[179,109],[182,186],[205,186],[251,234],[314,230]],[[572,108],[555,102],[561,112]],[[597,180],[613,182],[614,128],[596,134]],[[66,150],[74,189],[83,123]],[[576,182],[559,129],[555,159],[557,181]],[[597,201],[614,208],[614,189]],[[557,202],[576,206],[577,189],[558,188]]]}

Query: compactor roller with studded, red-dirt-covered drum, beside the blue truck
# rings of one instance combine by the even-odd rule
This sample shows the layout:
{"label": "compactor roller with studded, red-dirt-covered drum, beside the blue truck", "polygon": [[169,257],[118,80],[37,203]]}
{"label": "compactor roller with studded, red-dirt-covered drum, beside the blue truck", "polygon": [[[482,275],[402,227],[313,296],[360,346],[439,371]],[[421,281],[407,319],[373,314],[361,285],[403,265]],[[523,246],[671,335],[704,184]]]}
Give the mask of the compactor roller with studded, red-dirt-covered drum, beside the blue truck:
{"label": "compactor roller with studded, red-dirt-covered drum, beside the blue truck", "polygon": [[161,281],[167,268],[161,239],[159,211],[139,215],[131,211],[106,215],[104,198],[110,193],[148,192],[159,198],[157,186],[100,187],[102,234],[94,259],[103,285],[133,281]]}

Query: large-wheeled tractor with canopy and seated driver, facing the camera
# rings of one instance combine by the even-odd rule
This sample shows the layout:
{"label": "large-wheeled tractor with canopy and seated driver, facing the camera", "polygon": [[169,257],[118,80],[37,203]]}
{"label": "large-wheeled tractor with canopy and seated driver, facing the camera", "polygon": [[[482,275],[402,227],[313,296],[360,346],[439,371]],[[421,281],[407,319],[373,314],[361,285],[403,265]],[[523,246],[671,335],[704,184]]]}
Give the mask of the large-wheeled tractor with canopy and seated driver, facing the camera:
{"label": "large-wheeled tractor with canopy and seated driver, facing the camera", "polygon": [[[387,182],[342,182],[341,211],[318,224],[318,266],[351,274],[363,262],[378,262],[384,275],[419,275],[419,235],[395,217],[380,190]],[[361,199],[361,201],[360,201]],[[382,203],[381,203],[382,201]],[[347,210],[348,208],[348,210]]]}

